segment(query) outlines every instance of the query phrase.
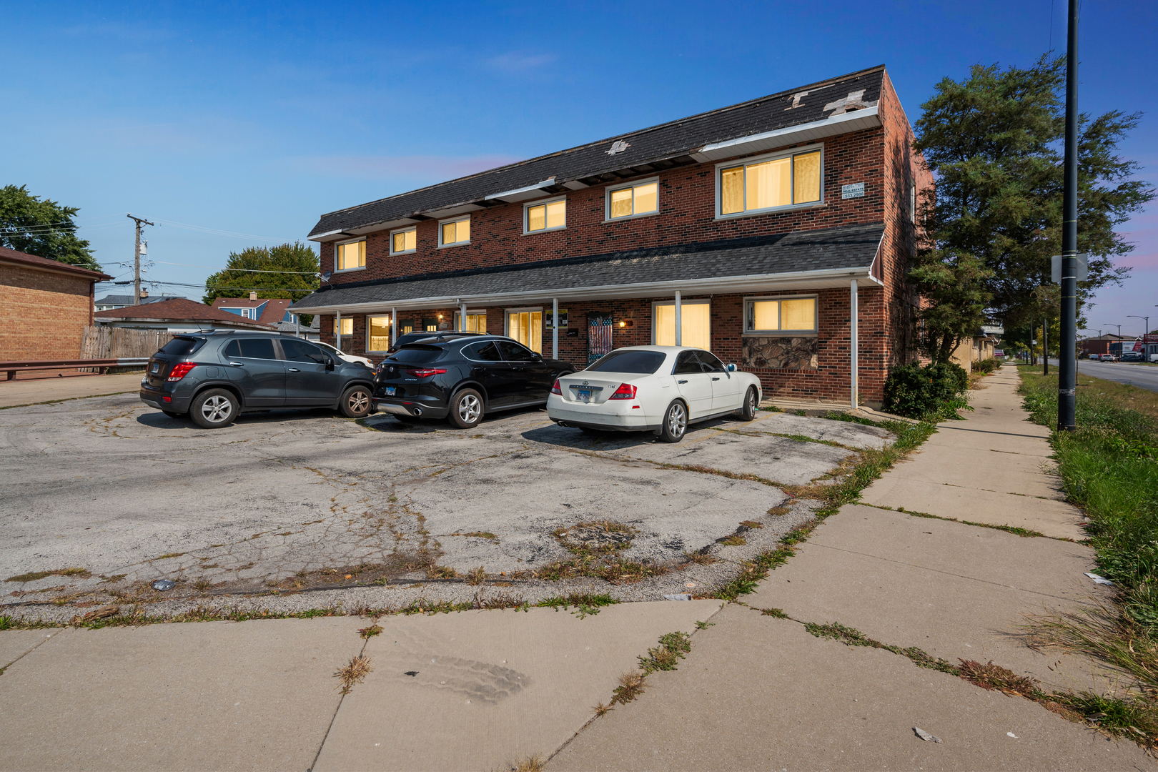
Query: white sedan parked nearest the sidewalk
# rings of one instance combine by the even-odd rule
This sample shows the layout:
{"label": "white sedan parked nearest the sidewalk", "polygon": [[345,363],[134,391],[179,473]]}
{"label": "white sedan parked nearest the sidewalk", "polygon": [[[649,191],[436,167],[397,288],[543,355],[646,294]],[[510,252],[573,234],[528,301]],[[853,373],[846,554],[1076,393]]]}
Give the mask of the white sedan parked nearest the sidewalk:
{"label": "white sedan parked nearest the sidewalk", "polygon": [[547,416],[559,426],[654,432],[679,442],[689,424],[740,412],[756,416],[760,378],[686,346],[616,348],[587,369],[555,382]]}

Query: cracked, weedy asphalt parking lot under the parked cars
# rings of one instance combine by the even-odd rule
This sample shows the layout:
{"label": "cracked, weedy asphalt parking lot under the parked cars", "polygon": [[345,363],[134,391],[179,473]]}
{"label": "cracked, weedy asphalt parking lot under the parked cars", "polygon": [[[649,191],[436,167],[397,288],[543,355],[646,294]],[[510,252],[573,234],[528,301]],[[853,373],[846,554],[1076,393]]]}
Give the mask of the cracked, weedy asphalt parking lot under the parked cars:
{"label": "cracked, weedy asphalt parking lot under the parked cars", "polygon": [[[478,567],[486,591],[532,602],[576,590],[699,593],[819,506],[778,486],[823,479],[888,438],[772,412],[697,425],[670,446],[559,428],[543,410],[469,431],[328,411],[248,414],[206,431],[134,394],[9,409],[0,411],[3,612],[71,617],[118,598],[269,605],[272,595],[287,609],[389,608],[477,597],[462,576]],[[556,534],[591,521],[628,527],[621,557],[666,571],[614,584],[536,576],[572,557]],[[743,544],[718,543],[746,521],[762,527],[734,539]],[[689,563],[696,552],[717,560]],[[162,578],[178,582],[164,596],[148,589]]]}

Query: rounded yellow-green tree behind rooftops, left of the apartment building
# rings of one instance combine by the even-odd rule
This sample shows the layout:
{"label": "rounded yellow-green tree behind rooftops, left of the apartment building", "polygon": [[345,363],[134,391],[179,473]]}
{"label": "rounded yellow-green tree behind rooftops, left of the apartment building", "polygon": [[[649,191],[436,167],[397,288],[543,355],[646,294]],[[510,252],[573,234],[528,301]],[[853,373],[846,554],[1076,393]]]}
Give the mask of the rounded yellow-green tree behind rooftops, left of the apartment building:
{"label": "rounded yellow-green tree behind rooftops, left of the apartment building", "polygon": [[225,270],[205,280],[203,300],[212,303],[215,297],[248,297],[251,287],[258,288],[258,297],[301,300],[317,289],[318,270],[317,253],[300,242],[250,247],[230,252]]}

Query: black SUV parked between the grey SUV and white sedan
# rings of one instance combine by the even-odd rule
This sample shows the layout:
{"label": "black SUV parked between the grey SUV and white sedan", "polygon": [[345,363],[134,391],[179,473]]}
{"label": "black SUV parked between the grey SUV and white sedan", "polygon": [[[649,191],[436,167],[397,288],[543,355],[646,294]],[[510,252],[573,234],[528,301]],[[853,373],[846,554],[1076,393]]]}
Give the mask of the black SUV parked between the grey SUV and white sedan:
{"label": "black SUV parked between the grey SUV and white sedan", "polygon": [[476,334],[402,346],[374,375],[374,407],[398,420],[449,418],[470,428],[484,413],[547,402],[576,368],[543,359],[511,338]]}

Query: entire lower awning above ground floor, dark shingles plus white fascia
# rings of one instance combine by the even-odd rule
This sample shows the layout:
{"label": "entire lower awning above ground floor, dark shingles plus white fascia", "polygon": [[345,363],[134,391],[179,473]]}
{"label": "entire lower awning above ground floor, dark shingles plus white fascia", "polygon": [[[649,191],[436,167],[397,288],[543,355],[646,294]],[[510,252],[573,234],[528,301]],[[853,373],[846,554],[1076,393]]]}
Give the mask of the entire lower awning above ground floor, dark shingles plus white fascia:
{"label": "entire lower awning above ground floor, dark shingles plus white fascia", "polygon": [[846,226],[331,285],[292,310],[842,286],[870,277],[884,233],[884,223]]}

